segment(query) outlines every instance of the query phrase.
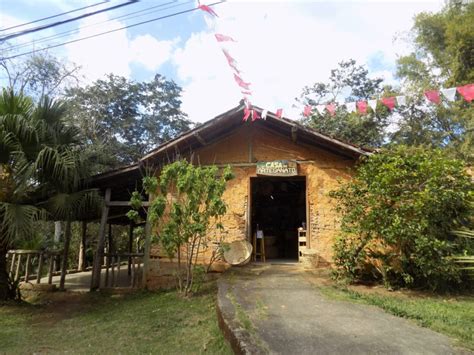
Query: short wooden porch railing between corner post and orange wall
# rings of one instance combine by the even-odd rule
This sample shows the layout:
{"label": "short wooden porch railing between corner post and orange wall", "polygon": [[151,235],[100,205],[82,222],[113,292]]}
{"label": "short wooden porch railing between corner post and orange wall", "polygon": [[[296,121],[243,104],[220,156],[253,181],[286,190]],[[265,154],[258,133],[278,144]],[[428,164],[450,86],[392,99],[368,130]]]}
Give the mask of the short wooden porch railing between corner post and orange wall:
{"label": "short wooden porch railing between corner post and orange wall", "polygon": [[[104,286],[140,287],[143,275],[143,256],[143,253],[105,253]],[[124,278],[125,272],[127,275]]]}

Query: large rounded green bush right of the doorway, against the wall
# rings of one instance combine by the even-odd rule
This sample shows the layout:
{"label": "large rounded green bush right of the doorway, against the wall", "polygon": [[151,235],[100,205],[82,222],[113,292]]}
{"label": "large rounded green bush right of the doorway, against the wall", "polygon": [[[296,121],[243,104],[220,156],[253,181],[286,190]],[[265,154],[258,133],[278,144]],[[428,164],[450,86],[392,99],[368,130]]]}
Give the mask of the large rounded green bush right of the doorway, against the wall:
{"label": "large rounded green bush right of the doorway, against the wall", "polygon": [[342,214],[339,276],[390,287],[458,284],[459,270],[447,256],[468,247],[450,233],[472,213],[474,186],[464,169],[423,148],[400,146],[366,159],[352,181],[331,192]]}

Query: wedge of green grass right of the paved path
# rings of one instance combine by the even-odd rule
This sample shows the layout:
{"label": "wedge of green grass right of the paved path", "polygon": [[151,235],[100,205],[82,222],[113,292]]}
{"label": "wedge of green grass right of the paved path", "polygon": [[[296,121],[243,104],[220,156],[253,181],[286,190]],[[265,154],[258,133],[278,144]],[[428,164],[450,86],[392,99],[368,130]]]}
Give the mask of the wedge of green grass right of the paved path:
{"label": "wedge of green grass right of the paved path", "polygon": [[318,286],[327,298],[363,303],[453,338],[457,345],[474,350],[474,297],[390,296]]}

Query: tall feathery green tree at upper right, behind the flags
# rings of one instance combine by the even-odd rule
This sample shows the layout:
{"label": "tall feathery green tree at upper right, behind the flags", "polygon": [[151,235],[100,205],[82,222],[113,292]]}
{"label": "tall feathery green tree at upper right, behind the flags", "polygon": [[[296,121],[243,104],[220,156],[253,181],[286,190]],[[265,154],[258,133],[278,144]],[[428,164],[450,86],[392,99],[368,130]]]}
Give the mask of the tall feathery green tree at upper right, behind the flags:
{"label": "tall feathery green tree at upper right, behind the flags", "polygon": [[449,1],[438,13],[420,13],[412,29],[414,51],[398,60],[397,76],[414,99],[401,112],[392,141],[444,147],[474,159],[474,108],[459,100],[429,108],[426,90],[474,82],[474,3]]}

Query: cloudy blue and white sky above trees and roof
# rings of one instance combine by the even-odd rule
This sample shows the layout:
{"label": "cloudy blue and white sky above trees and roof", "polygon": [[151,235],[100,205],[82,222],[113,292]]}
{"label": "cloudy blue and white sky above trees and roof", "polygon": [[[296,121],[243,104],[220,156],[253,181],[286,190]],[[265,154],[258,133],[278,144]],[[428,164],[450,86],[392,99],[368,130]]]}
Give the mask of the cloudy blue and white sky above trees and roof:
{"label": "cloudy blue and white sky above trees and roof", "polygon": [[[25,27],[97,11],[127,0],[98,6]],[[216,0],[217,1],[217,0]],[[101,0],[0,0],[0,30]],[[202,1],[209,4],[209,1]],[[60,44],[193,9],[195,0],[140,0],[120,9],[10,40],[4,57]],[[49,49],[65,62],[81,66],[81,85],[108,73],[150,80],[156,73],[183,88],[182,109],[195,122],[207,121],[242,99],[215,33],[231,36],[225,48],[241,76],[251,83],[250,101],[297,118],[295,98],[305,85],[327,81],[330,70],[353,58],[371,77],[397,84],[396,60],[410,52],[409,30],[419,12],[438,11],[443,1],[250,1],[229,0],[213,6],[218,17],[192,11],[92,39]],[[142,11],[143,10],[143,11]],[[61,34],[62,37],[46,37]],[[18,47],[18,46],[22,47]],[[17,46],[9,51],[8,46]]]}

